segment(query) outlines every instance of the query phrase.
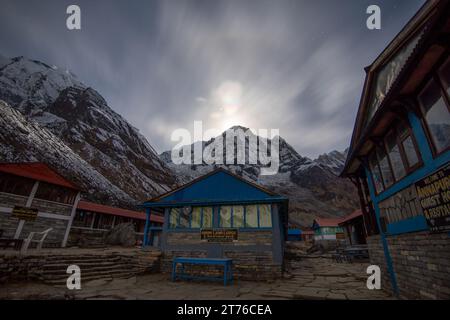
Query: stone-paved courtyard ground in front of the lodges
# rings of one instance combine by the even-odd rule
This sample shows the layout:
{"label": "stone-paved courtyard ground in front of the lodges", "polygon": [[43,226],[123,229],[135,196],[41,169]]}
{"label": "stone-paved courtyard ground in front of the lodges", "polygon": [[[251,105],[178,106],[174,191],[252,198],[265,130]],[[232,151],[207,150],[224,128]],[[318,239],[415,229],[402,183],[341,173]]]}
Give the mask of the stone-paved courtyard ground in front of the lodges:
{"label": "stone-paved courtyard ground in front of the lodges", "polygon": [[0,299],[392,299],[366,288],[367,263],[336,263],[324,257],[304,257],[288,263],[283,279],[269,282],[171,282],[169,275],[149,274],[129,279],[93,280],[81,290],[38,282],[8,283]]}

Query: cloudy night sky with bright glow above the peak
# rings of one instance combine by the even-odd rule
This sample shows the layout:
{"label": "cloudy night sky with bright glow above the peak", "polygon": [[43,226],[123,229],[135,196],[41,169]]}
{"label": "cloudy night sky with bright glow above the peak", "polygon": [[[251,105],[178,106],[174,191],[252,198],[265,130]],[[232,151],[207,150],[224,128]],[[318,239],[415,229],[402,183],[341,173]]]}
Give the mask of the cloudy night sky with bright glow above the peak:
{"label": "cloudy night sky with bright glow above the peak", "polygon": [[[158,152],[177,128],[276,128],[345,149],[369,65],[424,0],[0,0],[0,54],[68,68]],[[80,31],[66,8],[81,7]],[[366,28],[377,4],[382,29]]]}

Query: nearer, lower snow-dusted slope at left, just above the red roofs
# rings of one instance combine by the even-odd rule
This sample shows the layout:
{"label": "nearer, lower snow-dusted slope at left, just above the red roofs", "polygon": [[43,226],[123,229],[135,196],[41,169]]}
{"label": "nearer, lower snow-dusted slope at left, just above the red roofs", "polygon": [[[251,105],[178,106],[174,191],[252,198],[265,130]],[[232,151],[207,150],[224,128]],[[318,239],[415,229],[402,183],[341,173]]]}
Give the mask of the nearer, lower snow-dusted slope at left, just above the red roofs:
{"label": "nearer, lower snow-dusted slope at left, just above the red roofs", "polygon": [[52,132],[27,120],[3,101],[0,101],[0,127],[2,161],[46,162],[85,191],[95,191],[93,197],[96,200],[111,200],[114,204],[136,203]]}

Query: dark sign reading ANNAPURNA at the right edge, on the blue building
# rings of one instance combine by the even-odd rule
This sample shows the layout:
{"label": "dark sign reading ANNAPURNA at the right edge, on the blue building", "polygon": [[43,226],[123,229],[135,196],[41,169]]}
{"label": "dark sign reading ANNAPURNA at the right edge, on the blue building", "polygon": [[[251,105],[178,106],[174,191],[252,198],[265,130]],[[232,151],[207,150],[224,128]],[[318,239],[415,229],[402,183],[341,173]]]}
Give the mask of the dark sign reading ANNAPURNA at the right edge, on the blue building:
{"label": "dark sign reading ANNAPURNA at the right edge, on the blue building", "polygon": [[432,232],[450,231],[450,165],[416,182],[423,214]]}

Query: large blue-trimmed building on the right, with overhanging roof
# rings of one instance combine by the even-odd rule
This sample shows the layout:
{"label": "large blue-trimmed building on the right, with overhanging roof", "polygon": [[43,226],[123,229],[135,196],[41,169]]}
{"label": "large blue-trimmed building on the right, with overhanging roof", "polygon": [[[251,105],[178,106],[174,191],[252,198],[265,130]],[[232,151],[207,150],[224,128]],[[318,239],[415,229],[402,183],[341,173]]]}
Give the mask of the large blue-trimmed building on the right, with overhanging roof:
{"label": "large blue-trimmed building on the right, with overhanging roof", "polygon": [[427,1],[366,80],[342,176],[382,288],[450,298],[450,1]]}

